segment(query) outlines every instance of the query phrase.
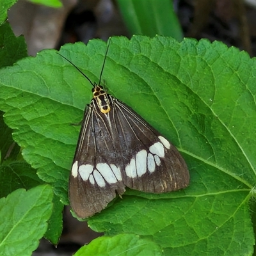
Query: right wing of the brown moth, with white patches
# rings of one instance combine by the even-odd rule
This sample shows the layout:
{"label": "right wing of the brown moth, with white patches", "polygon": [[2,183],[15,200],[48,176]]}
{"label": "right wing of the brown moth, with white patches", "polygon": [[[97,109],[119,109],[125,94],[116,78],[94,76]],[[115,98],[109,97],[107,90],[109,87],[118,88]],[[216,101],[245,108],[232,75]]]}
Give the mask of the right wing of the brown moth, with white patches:
{"label": "right wing of the brown moth, with white patches", "polygon": [[[189,172],[179,151],[126,104],[117,99],[114,99],[114,103],[113,119],[118,129],[116,133],[120,138],[116,147],[120,147],[119,150],[124,156],[121,161],[123,161],[125,186],[149,193],[163,193],[186,188],[189,184]],[[118,122],[120,125],[117,125]],[[149,170],[150,156],[156,157],[157,155],[150,152],[152,151],[150,148],[154,146],[156,146],[155,149],[159,147],[159,150],[164,150],[164,153],[159,152],[160,164],[151,165],[151,170]],[[136,173],[129,177],[126,169],[127,166],[134,165],[133,159]],[[145,173],[141,174],[143,172]]]}

